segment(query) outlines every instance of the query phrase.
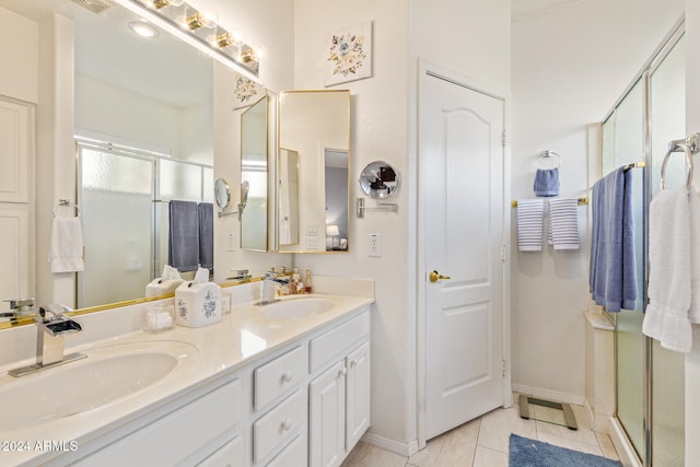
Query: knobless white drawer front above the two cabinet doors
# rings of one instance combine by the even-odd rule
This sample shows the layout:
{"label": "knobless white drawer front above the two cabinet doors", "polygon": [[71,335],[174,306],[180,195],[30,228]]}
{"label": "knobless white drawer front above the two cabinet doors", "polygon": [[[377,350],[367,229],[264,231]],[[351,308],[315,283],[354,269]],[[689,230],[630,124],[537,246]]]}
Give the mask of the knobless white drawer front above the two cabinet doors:
{"label": "knobless white drawer front above the two cabinet doors", "polygon": [[310,342],[311,371],[337,360],[354,342],[370,335],[370,313],[362,313]]}

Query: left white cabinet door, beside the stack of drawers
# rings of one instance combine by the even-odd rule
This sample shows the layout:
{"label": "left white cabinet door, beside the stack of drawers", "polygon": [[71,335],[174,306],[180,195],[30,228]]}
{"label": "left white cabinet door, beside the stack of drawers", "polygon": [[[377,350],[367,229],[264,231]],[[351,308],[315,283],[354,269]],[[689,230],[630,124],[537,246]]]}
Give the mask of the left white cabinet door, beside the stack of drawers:
{"label": "left white cabinet door, beside the stack of drawers", "polygon": [[339,466],[346,453],[346,365],[338,362],[308,386],[310,466]]}

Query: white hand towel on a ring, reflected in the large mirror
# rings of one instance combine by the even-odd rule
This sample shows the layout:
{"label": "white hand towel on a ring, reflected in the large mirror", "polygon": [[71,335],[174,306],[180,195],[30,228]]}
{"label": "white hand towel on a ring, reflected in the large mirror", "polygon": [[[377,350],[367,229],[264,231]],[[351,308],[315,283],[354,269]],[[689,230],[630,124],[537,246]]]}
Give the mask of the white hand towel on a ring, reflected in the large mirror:
{"label": "white hand towel on a ring, reflected in the large mirror", "polygon": [[51,264],[51,272],[84,270],[83,230],[80,218],[54,218],[48,260]]}

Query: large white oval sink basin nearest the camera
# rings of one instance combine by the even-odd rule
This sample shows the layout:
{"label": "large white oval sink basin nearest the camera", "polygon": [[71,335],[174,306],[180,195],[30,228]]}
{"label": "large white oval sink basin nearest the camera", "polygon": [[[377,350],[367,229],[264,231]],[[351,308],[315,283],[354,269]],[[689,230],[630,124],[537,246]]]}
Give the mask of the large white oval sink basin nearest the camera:
{"label": "large white oval sink basin nearest the camera", "polygon": [[0,431],[31,427],[104,407],[165,377],[197,354],[179,341],[110,345],[86,359],[0,386]]}

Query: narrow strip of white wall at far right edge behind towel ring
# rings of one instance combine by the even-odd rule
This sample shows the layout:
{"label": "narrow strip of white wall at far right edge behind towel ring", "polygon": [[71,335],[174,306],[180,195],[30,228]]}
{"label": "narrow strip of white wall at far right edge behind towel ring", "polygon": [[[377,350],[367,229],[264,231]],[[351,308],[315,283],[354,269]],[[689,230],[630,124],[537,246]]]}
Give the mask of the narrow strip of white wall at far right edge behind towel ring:
{"label": "narrow strip of white wall at far right edge behind towel ring", "polygon": [[[686,128],[700,131],[700,2],[686,0]],[[697,178],[696,178],[697,180]],[[697,187],[697,182],[696,182]],[[692,352],[686,358],[686,465],[700,465],[700,326],[693,326]]]}

